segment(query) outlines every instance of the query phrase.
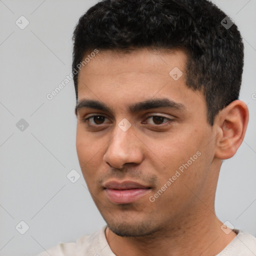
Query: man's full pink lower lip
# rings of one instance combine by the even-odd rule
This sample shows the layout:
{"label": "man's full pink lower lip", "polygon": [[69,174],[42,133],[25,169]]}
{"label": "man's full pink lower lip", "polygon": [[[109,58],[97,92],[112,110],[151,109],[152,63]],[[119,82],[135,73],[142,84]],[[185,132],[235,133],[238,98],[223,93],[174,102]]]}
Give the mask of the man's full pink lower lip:
{"label": "man's full pink lower lip", "polygon": [[105,188],[106,196],[113,203],[131,203],[145,195],[150,188],[117,190]]}

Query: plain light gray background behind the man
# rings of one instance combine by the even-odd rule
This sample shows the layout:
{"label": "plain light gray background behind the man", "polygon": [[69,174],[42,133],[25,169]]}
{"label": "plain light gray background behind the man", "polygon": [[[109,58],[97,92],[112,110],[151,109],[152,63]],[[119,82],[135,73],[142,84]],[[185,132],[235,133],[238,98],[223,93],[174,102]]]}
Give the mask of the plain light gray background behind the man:
{"label": "plain light gray background behind the man", "polygon": [[[73,28],[96,2],[0,0],[0,255],[36,255],[105,224],[76,155],[73,82],[52,100],[46,98],[70,74]],[[235,21],[244,39],[240,99],[250,113],[243,143],[223,162],[216,214],[256,235],[256,1],[214,2]],[[15,24],[21,15],[29,21],[24,29]],[[16,127],[21,118],[29,124],[23,131]],[[71,169],[81,175],[75,183],[66,177]],[[17,231],[25,228],[21,220],[29,226],[24,234]]]}

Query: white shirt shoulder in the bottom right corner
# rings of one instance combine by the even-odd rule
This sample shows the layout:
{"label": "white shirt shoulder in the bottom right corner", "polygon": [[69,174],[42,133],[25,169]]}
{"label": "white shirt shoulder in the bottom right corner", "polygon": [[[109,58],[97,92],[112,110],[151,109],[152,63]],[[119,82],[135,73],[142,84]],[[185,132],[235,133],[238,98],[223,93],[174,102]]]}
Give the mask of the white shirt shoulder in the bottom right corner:
{"label": "white shirt shoulder in the bottom right corner", "polygon": [[255,256],[256,238],[250,233],[236,230],[237,235],[217,256]]}

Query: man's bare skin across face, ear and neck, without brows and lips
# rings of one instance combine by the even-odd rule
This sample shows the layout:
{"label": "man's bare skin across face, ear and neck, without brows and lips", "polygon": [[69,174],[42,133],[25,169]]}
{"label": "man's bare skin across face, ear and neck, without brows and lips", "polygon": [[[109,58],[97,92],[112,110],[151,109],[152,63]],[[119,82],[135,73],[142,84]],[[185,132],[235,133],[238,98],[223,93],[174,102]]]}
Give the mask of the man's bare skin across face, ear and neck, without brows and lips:
{"label": "man's bare skin across face, ear and neck, without brows and lips", "polygon": [[[203,95],[185,84],[186,60],[181,49],[104,50],[79,71],[78,103],[94,99],[111,109],[77,109],[76,150],[90,194],[107,223],[107,242],[117,256],[216,255],[236,235],[221,230],[214,198],[222,159],[232,157],[241,144],[248,109],[235,100],[209,125]],[[174,67],[183,72],[178,80],[169,75]],[[159,98],[183,108],[131,113],[127,107]],[[84,121],[93,115],[103,118]],[[126,131],[118,126],[123,118],[131,124]],[[200,156],[151,202],[149,196],[198,151]],[[150,189],[135,202],[113,203],[102,186],[109,180],[132,180]]]}

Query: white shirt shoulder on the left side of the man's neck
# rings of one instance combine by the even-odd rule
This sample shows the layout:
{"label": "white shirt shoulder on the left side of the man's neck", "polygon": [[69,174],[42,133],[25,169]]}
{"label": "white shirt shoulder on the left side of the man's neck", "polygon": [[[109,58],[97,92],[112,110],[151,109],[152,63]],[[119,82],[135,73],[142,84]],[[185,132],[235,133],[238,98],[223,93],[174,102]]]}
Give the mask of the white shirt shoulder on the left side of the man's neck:
{"label": "white shirt shoulder on the left side of the man's neck", "polygon": [[95,248],[95,244],[96,247],[101,246],[101,244],[103,244],[102,247],[108,245],[104,234],[105,228],[106,226],[103,226],[93,234],[83,235],[75,242],[59,242],[56,246],[50,247],[36,256],[94,255],[97,250],[97,248]]}

